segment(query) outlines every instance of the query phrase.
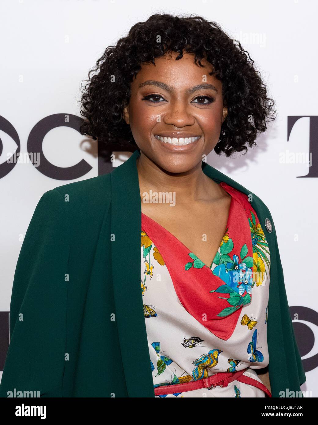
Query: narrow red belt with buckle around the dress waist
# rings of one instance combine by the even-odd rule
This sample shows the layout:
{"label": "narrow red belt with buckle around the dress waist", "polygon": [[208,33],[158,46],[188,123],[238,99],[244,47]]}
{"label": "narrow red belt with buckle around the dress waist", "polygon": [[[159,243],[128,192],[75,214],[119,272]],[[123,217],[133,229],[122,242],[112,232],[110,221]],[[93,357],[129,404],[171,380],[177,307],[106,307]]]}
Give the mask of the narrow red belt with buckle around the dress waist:
{"label": "narrow red belt with buckle around the dress waist", "polygon": [[216,387],[218,385],[220,385],[221,387],[227,387],[229,382],[237,380],[239,382],[244,382],[244,384],[249,384],[253,385],[254,387],[260,388],[268,395],[268,397],[272,397],[272,394],[265,387],[264,384],[258,382],[256,379],[243,375],[246,369],[236,372],[220,372],[211,375],[207,378],[199,379],[197,381],[184,382],[182,384],[162,385],[160,387],[154,388],[155,396],[161,396],[163,394],[182,393],[183,391],[193,391],[198,390],[199,388]]}

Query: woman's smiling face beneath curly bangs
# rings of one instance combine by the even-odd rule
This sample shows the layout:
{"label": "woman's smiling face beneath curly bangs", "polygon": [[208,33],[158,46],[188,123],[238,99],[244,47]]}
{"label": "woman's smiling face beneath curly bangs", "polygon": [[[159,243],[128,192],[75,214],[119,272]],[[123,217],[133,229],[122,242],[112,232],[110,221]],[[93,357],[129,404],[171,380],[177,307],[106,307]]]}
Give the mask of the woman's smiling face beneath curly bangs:
{"label": "woman's smiling face beneath curly bangs", "polygon": [[177,55],[142,65],[123,114],[140,159],[145,155],[170,173],[191,170],[213,150],[227,115],[222,83],[209,75],[213,66],[202,60],[202,68],[187,53],[175,60]]}

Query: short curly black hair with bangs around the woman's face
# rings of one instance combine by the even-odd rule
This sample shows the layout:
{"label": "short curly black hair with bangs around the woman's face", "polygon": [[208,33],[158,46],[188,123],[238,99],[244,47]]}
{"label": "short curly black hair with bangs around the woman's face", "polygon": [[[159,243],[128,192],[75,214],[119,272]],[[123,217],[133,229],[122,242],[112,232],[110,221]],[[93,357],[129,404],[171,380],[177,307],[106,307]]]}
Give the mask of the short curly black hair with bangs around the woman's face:
{"label": "short curly black hair with bangs around the woman's face", "polygon": [[200,66],[201,59],[207,59],[214,66],[210,75],[222,82],[228,111],[215,152],[231,156],[244,149],[246,153],[245,144],[256,145],[257,133],[264,132],[266,123],[275,119],[274,101],[267,97],[260,73],[240,42],[231,39],[218,23],[191,15],[153,14],[133,25],[116,46],[106,48],[96,68],[88,72],[81,93],[80,133],[102,141],[105,148],[119,145],[139,149],[122,117],[131,96],[130,84],[142,63],[154,64],[156,57],[170,51],[179,53],[176,60],[182,58],[183,51],[193,54]]}

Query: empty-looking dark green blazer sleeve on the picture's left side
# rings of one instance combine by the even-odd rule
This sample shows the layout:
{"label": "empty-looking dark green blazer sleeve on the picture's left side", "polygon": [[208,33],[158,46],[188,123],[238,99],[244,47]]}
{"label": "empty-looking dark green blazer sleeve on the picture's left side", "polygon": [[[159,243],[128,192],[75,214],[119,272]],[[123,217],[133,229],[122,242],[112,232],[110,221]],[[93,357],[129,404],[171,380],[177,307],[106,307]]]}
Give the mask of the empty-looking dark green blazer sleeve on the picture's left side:
{"label": "empty-looking dark green blazer sleeve on the picture's left side", "polygon": [[10,397],[10,391],[62,397],[70,251],[68,204],[56,189],[45,192],[26,231],[14,273],[10,343],[0,397]]}

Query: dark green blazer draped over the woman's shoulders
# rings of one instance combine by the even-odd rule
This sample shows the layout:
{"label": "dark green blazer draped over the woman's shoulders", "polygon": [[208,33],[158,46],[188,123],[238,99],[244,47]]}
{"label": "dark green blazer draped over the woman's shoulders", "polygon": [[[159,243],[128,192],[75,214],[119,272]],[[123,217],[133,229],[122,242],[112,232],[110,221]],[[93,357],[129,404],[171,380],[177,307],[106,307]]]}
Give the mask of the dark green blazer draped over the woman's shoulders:
{"label": "dark green blazer draped over the woman's shoulders", "polygon": [[[40,198],[14,274],[0,397],[14,388],[40,397],[155,397],[140,292],[138,156],[136,150],[109,174]],[[202,170],[252,194],[205,162]],[[280,397],[287,388],[300,391],[306,377],[273,218],[252,195],[270,248],[269,377],[273,397]]]}

